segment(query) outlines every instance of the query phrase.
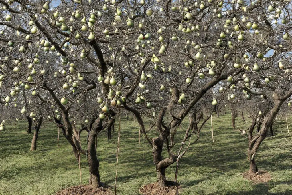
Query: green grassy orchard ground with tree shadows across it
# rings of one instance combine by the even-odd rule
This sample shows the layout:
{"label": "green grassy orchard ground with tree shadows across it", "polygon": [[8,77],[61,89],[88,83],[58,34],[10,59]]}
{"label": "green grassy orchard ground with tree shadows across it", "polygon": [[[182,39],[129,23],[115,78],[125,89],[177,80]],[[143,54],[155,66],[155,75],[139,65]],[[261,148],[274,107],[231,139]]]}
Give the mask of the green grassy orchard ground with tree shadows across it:
{"label": "green grassy orchard ground with tree shadows across it", "polygon": [[[283,118],[277,121],[275,136],[267,137],[256,155],[259,169],[269,172],[272,180],[254,185],[241,175],[248,170],[247,139],[231,128],[230,118],[229,114],[220,118],[213,116],[215,144],[209,121],[197,144],[192,145],[181,159],[178,170],[180,194],[292,194],[292,139],[287,133],[286,121]],[[236,126],[247,128],[249,123],[238,118]],[[55,194],[60,189],[78,185],[78,164],[62,135],[60,147],[57,147],[57,128],[46,123],[40,130],[38,149],[29,151],[32,134],[26,134],[26,127],[26,121],[11,122],[6,123],[6,131],[0,132],[0,194]],[[182,130],[178,130],[180,138],[186,127],[187,121]],[[113,139],[109,141],[102,132],[97,147],[101,180],[112,186],[116,171],[117,129],[118,123]],[[155,130],[149,134],[155,136]],[[139,194],[140,186],[156,181],[151,148],[143,137],[139,145],[138,136],[137,122],[123,119],[117,194]],[[85,146],[85,132],[82,140]],[[175,141],[179,143],[180,140]],[[173,150],[177,151],[178,147],[179,144]],[[82,156],[81,160],[82,183],[87,184],[86,157]],[[168,180],[173,180],[174,174],[175,165],[172,165],[166,170]]]}

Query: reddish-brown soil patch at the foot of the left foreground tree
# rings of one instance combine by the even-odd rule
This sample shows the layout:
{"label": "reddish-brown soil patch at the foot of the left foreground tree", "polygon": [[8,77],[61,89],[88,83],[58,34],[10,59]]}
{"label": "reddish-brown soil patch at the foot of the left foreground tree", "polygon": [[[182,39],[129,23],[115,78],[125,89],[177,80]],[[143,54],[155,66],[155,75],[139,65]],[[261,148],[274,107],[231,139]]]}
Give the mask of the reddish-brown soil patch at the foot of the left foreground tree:
{"label": "reddish-brown soil patch at the foot of the left foreground tree", "polygon": [[66,189],[62,189],[56,193],[56,195],[112,195],[112,191],[107,187],[98,188],[92,190],[89,185],[73,186]]}

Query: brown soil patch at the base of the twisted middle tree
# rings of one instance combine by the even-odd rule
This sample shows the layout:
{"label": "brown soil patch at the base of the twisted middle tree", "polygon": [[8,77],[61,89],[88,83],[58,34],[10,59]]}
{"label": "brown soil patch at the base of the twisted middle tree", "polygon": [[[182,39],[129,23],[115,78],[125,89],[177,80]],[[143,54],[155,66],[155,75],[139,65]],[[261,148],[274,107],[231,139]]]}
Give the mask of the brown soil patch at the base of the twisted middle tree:
{"label": "brown soil patch at the base of the twisted middle tree", "polygon": [[175,195],[175,191],[175,186],[159,187],[158,182],[147,184],[140,188],[140,193],[145,195]]}

